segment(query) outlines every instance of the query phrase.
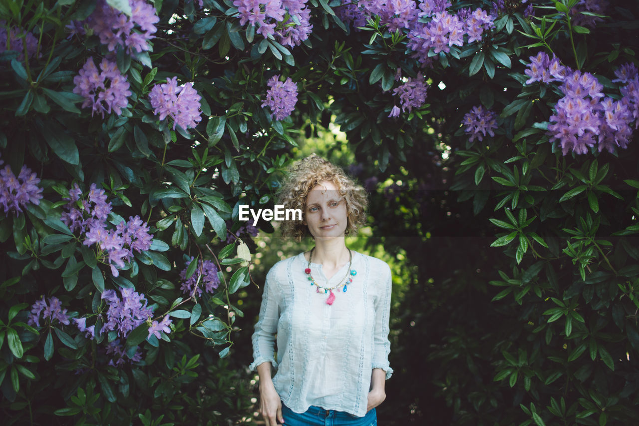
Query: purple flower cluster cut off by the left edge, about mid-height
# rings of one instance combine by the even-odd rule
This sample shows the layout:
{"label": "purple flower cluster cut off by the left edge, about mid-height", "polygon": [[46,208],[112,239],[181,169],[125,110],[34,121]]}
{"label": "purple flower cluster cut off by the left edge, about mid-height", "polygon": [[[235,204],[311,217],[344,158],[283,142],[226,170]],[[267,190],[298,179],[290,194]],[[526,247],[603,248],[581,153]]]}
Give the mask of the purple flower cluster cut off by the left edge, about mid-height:
{"label": "purple flower cluster cut off by the left edge, about mid-height", "polygon": [[[4,164],[0,158],[0,166]],[[42,188],[38,187],[40,179],[27,166],[22,166],[16,177],[8,164],[0,170],[0,205],[4,207],[4,214],[12,211],[22,212],[27,203],[40,204]]]}

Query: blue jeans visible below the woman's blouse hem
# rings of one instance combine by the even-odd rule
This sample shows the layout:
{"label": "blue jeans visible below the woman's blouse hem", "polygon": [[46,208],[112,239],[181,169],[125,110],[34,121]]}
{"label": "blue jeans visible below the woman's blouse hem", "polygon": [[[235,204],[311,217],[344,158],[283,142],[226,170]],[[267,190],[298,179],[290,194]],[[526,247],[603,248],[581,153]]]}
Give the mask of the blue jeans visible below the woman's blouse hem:
{"label": "blue jeans visible below the woman's blouse hem", "polygon": [[294,413],[282,404],[284,426],[377,426],[377,413],[371,409],[364,417],[356,417],[345,411],[325,410],[311,406],[305,413]]}

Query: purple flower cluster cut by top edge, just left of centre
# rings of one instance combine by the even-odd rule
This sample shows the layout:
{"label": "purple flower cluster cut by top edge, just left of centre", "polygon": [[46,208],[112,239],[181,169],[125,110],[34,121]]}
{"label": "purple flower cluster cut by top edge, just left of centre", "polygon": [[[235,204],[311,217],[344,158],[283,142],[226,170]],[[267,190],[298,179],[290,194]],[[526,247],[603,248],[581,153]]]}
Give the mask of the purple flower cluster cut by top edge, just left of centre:
{"label": "purple flower cluster cut by top edge, just left of centre", "polygon": [[300,45],[313,28],[305,0],[235,0],[233,5],[240,13],[240,25],[257,24],[258,34],[275,36],[282,45]]}

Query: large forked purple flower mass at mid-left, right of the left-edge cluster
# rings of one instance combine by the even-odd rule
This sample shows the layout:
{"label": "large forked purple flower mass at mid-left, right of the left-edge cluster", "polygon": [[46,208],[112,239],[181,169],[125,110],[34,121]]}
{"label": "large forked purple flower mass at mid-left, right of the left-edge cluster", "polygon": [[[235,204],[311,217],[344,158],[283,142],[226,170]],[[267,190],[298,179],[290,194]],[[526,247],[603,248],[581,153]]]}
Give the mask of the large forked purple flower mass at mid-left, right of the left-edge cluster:
{"label": "large forked purple flower mass at mid-left, right of the left-edge cluster", "polygon": [[[125,267],[125,260],[130,260],[133,252],[151,248],[153,235],[146,222],[139,216],[129,217],[125,223],[121,221],[115,229],[107,229],[107,217],[111,213],[111,203],[107,202],[104,189],[98,189],[95,184],[89,187],[86,198],[81,198],[82,190],[77,184],[69,191],[65,198],[66,211],[61,220],[72,230],[84,233],[86,246],[98,244],[105,251],[111,266],[113,276],[118,276],[118,267]],[[117,267],[116,267],[117,266]]]}

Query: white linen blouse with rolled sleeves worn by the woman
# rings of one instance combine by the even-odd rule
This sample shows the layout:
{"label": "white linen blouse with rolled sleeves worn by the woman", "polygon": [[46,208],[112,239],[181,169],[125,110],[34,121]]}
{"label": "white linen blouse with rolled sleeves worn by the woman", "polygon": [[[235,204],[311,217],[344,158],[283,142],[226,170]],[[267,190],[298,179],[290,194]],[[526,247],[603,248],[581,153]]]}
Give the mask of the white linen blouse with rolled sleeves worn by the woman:
{"label": "white linen blouse with rolled sleeves worn by the woman", "polygon": [[[270,361],[277,370],[273,384],[295,413],[310,406],[366,414],[373,368],[389,379],[389,312],[391,274],[382,260],[353,251],[357,272],[335,301],[318,294],[304,272],[304,253],[277,262],[266,275],[259,320],[252,336],[255,370]],[[348,264],[327,282],[320,264],[311,274],[323,287],[343,280]],[[277,361],[274,358],[277,334]]]}

